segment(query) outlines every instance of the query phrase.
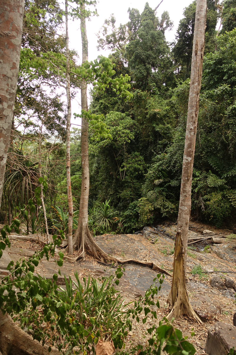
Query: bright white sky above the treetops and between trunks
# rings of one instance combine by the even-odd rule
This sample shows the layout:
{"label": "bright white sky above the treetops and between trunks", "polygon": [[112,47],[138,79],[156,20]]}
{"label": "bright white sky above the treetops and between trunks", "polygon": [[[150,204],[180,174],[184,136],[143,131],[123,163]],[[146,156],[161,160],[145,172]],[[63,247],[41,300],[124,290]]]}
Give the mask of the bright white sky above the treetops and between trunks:
{"label": "bright white sky above the treetops and between trunks", "polygon": [[[149,0],[149,6],[152,9],[160,3],[161,0]],[[175,39],[176,30],[181,18],[183,18],[184,7],[191,4],[192,0],[163,0],[159,8],[157,9],[157,16],[161,16],[163,11],[168,11],[171,20],[174,22],[174,27],[171,31],[166,31],[166,39],[172,42]],[[111,13],[114,13],[116,18],[116,26],[120,23],[125,24],[129,21],[127,10],[130,7],[138,9],[142,13],[146,0],[100,0],[97,1],[98,17],[92,17],[91,21],[86,20],[87,37],[88,37],[88,60],[94,60],[98,55],[108,56],[110,51],[98,51],[97,50],[97,36],[99,29],[102,27],[106,18],[109,18]],[[92,7],[91,7],[92,8]],[[75,49],[80,58],[82,58],[82,44],[80,35],[80,20],[69,22],[69,46],[70,49]],[[72,105],[72,117],[71,123],[81,124],[78,119],[74,119],[73,113],[80,113],[81,109],[78,104],[80,102],[80,93],[76,100],[73,100]],[[76,127],[73,126],[72,127]]]}

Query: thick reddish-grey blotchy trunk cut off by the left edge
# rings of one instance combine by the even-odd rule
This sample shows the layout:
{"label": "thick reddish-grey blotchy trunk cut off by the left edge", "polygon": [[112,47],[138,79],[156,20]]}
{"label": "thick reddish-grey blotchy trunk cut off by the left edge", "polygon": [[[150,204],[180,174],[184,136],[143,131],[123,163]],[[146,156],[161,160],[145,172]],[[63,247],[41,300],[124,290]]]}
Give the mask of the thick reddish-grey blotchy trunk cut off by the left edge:
{"label": "thick reddish-grey blotchy trunk cut off by the left edge", "polygon": [[0,3],[0,207],[16,98],[24,0]]}

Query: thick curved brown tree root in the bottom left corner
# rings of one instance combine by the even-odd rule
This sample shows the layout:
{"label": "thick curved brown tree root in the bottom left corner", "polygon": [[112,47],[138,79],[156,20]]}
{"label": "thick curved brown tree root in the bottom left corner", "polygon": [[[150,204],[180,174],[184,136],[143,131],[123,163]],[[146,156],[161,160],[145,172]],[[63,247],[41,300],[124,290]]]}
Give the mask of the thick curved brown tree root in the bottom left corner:
{"label": "thick curved brown tree root in the bottom left corner", "polygon": [[0,352],[2,355],[60,355],[61,352],[52,346],[48,352],[48,346],[42,346],[31,335],[19,328],[5,313],[0,311]]}

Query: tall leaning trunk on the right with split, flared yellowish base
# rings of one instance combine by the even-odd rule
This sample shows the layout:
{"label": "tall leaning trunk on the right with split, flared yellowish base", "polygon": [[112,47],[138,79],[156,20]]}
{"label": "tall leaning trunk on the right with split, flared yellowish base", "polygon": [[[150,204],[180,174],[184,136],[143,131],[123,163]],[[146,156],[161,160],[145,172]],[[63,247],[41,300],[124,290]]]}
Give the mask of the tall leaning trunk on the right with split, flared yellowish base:
{"label": "tall leaning trunk on the right with split, flared yellowish base", "polygon": [[185,134],[185,146],[180,188],[177,234],[175,236],[172,287],[168,303],[173,306],[168,319],[178,318],[182,314],[201,322],[192,309],[186,290],[186,258],[188,246],[189,218],[191,212],[192,168],[194,164],[195,142],[197,134],[197,117],[199,95],[202,80],[202,63],[204,54],[204,37],[206,28],[207,0],[197,0],[192,49],[188,118]]}

